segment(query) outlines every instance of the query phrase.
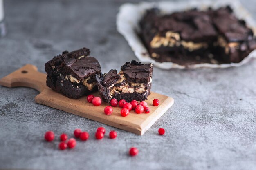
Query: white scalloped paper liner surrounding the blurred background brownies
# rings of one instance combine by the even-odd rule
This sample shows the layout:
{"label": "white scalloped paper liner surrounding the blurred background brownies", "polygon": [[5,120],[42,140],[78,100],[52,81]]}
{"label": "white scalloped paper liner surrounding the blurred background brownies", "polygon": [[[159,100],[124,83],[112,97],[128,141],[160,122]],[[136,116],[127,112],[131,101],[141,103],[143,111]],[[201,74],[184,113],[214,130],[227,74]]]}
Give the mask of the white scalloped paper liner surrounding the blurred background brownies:
{"label": "white scalloped paper liner surrounding the blurred background brownies", "polygon": [[225,7],[229,5],[236,15],[237,18],[245,20],[247,26],[251,28],[256,33],[256,22],[252,16],[245,10],[245,8],[240,4],[238,0],[216,0],[216,1],[161,1],[161,2],[141,2],[139,4],[126,3],[121,5],[119,13],[117,14],[117,31],[121,33],[124,38],[128,41],[128,44],[134,51],[136,57],[141,62],[151,62],[154,66],[162,69],[171,68],[227,68],[231,66],[241,66],[252,58],[256,57],[256,50],[252,51],[247,57],[245,57],[240,63],[230,63],[230,64],[191,64],[191,65],[179,65],[173,62],[157,62],[153,60],[144,44],[141,42],[138,32],[139,32],[139,21],[145,14],[147,9],[157,7],[160,9],[162,14],[173,13],[175,11],[184,11],[191,8],[198,8],[200,10],[207,10],[208,7],[213,9],[218,9],[219,7]]}

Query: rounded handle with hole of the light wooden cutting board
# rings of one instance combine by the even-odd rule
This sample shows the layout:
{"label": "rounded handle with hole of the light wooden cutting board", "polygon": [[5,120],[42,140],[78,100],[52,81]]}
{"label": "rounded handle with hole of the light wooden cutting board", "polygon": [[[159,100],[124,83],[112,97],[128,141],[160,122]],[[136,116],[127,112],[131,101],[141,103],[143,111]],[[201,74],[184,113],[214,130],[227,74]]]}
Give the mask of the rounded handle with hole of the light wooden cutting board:
{"label": "rounded handle with hole of the light wooden cutting board", "polygon": [[37,67],[27,64],[0,79],[0,85],[6,87],[30,87],[42,92],[46,87],[46,74],[37,71]]}

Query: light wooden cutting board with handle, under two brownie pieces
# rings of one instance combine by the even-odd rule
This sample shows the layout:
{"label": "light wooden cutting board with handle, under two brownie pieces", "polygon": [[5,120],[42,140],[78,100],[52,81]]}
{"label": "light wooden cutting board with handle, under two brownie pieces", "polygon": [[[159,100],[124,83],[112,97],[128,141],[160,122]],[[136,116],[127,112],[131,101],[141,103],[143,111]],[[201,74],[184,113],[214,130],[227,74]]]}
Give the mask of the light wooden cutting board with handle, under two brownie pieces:
{"label": "light wooden cutting board with handle, under two brownie pieces", "polygon": [[[174,102],[171,97],[151,92],[151,95],[148,96],[148,100],[146,101],[151,109],[150,113],[136,114],[132,110],[127,117],[122,117],[120,114],[121,108],[113,107],[114,111],[112,115],[108,116],[104,114],[104,108],[108,106],[105,102],[100,106],[93,106],[91,103],[87,102],[86,97],[69,99],[52,91],[51,88],[46,86],[46,74],[38,72],[36,66],[31,64],[27,64],[0,79],[0,85],[10,88],[19,86],[34,88],[40,92],[40,94],[35,97],[35,101],[38,104],[99,121],[103,124],[127,130],[138,135],[143,135]],[[96,92],[93,95],[99,96],[99,93]],[[153,106],[153,99],[159,99],[160,105]]]}

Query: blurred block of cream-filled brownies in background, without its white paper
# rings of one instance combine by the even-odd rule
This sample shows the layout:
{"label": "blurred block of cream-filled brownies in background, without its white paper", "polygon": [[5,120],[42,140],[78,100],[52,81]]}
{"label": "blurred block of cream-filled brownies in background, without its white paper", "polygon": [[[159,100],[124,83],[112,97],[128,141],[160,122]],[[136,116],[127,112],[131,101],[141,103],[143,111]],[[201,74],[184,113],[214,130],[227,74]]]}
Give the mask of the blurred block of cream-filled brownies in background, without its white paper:
{"label": "blurred block of cream-filled brownies in background, without its white paper", "polygon": [[158,62],[177,64],[240,62],[256,49],[256,39],[230,7],[160,15],[150,9],[140,22],[141,38]]}

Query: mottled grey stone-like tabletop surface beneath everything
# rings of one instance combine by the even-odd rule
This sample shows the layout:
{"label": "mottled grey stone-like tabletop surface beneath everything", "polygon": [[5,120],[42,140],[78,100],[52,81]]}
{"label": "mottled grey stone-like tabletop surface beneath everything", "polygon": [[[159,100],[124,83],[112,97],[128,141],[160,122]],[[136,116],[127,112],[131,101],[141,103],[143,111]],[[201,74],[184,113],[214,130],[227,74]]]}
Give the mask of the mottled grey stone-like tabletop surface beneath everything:
{"label": "mottled grey stone-like tabletop surface beneath everything", "polygon": [[[103,72],[135,55],[116,31],[125,0],[5,0],[8,35],[0,39],[0,77],[61,51],[86,46]],[[137,2],[132,0],[131,2]],[[256,16],[256,1],[243,0]],[[175,104],[143,136],[34,103],[38,91],[0,86],[0,169],[52,170],[253,170],[256,169],[256,61],[239,68],[163,71],[155,68],[152,91]],[[98,126],[118,138],[94,140]],[[166,129],[164,136],[158,128]],[[58,150],[44,132],[90,132],[73,150]],[[131,146],[139,149],[129,157]]]}

